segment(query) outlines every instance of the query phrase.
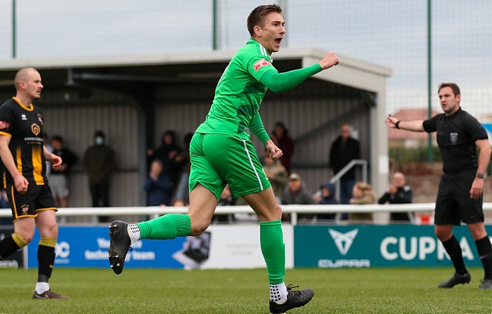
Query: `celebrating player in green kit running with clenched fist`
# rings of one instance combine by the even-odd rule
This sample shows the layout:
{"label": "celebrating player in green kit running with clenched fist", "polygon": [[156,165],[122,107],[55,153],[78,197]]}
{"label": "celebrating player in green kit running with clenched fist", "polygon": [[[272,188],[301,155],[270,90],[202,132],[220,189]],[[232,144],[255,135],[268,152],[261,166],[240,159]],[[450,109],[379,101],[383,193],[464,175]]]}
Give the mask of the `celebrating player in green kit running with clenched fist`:
{"label": "celebrating player in green kit running with clenched fist", "polygon": [[150,221],[110,225],[109,260],[115,273],[122,273],[131,243],[140,239],[174,239],[201,235],[209,226],[224,186],[234,197],[243,197],[260,219],[261,252],[270,284],[270,312],[285,313],[308,303],[312,289],[293,291],[285,287],[285,244],[280,223],[282,209],[250,140],[254,133],[271,159],[282,151],[268,137],[259,107],[266,90],[292,89],[313,74],[338,64],[329,52],[319,63],[299,70],[278,73],[271,53],[280,49],[285,34],[282,9],[276,4],[258,6],[247,18],[250,41],[240,48],[216,87],[209,114],[190,144],[190,207],[188,214],[167,214]]}

